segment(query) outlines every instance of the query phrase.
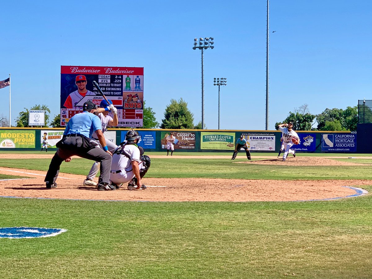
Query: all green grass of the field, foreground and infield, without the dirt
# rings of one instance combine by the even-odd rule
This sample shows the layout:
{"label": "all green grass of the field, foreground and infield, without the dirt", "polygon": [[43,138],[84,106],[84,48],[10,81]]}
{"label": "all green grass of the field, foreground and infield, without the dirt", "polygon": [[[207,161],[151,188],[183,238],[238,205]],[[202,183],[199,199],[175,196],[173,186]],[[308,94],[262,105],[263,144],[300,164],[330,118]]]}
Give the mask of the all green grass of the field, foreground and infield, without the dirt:
{"label": "all green grass of the field, foreground and infield, without the dirt", "polygon": [[[337,160],[363,166],[262,166],[165,156],[151,160],[147,176],[372,178],[372,160]],[[0,167],[30,170],[46,171],[49,163],[0,159]],[[74,159],[62,163],[61,171],[86,175],[91,165]],[[371,192],[372,182],[363,188]],[[239,203],[0,198],[0,227],[16,226],[68,231],[47,238],[0,238],[1,278],[372,278],[371,194]]]}

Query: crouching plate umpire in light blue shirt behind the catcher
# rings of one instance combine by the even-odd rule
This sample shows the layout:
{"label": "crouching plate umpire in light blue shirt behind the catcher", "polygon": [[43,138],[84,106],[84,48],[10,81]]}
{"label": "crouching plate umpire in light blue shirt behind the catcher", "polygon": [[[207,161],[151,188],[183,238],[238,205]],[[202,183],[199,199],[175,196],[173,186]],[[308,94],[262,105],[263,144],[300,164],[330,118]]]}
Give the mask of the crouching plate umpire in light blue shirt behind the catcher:
{"label": "crouching plate umpire in light blue shirt behind the catcher", "polygon": [[[45,184],[48,189],[56,188],[58,173],[62,161],[70,161],[72,155],[97,161],[101,163],[100,176],[98,179],[98,190],[115,190],[116,187],[110,185],[110,169],[112,154],[108,150],[105,137],[102,133],[102,124],[98,116],[94,115],[97,106],[92,102],[85,102],[83,112],[74,115],[66,125],[62,140],[57,142],[57,152],[50,162]],[[90,137],[96,132],[98,140],[102,145],[101,149],[98,143]]]}

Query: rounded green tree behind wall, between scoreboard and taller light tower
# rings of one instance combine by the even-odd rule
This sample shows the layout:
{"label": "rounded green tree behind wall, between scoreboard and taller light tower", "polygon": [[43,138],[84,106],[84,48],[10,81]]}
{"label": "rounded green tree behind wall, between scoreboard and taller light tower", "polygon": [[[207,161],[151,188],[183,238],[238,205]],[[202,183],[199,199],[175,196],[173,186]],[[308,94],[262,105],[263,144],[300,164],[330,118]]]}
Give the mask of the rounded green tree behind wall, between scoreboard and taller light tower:
{"label": "rounded green tree behind wall, between scoreboard and taller light tower", "polygon": [[161,120],[162,129],[193,129],[194,115],[187,108],[187,103],[181,98],[179,101],[170,100]]}

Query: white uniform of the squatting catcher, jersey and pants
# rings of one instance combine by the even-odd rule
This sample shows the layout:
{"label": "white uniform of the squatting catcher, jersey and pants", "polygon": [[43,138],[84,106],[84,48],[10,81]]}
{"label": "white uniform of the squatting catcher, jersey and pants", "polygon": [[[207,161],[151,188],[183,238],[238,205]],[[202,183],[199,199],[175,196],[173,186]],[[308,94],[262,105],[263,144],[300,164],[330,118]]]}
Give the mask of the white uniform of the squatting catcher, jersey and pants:
{"label": "white uniform of the squatting catcher, jersey and pants", "polygon": [[[128,157],[122,153],[125,153]],[[110,181],[116,185],[129,182],[135,177],[132,161],[138,162],[140,170],[144,169],[140,159],[140,150],[135,144],[124,145],[122,153],[114,153],[112,155]]]}

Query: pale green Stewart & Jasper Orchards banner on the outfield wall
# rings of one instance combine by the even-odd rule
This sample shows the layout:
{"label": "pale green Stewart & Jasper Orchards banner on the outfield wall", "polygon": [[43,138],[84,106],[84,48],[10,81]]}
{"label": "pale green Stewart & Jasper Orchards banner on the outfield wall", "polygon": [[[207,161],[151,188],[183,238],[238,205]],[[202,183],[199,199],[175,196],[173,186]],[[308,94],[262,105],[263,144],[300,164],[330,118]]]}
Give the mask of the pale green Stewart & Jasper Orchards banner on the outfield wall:
{"label": "pale green Stewart & Jasper Orchards banner on the outfield wall", "polygon": [[235,133],[201,132],[201,149],[234,150]]}

